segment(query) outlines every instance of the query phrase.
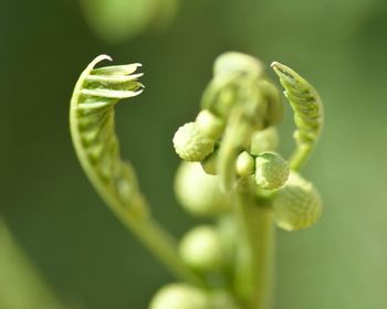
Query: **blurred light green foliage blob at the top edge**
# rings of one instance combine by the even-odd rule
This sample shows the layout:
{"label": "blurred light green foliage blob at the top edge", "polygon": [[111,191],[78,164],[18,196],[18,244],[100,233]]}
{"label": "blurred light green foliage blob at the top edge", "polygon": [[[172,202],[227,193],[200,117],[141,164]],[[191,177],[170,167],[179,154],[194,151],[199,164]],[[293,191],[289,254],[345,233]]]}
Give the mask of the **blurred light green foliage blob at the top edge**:
{"label": "blurred light green foliage blob at the top edge", "polygon": [[106,42],[125,42],[149,28],[165,28],[178,0],[81,0],[91,29]]}

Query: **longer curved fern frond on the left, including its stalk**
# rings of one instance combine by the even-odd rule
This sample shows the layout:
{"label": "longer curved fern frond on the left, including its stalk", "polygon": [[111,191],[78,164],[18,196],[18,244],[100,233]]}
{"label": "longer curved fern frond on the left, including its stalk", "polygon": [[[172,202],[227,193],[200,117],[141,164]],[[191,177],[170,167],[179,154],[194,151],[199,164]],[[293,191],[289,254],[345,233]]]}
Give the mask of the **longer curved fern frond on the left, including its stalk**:
{"label": "longer curved fern frond on the left, including its stalk", "polygon": [[81,74],[71,99],[70,126],[75,152],[96,191],[117,217],[178,277],[199,281],[179,259],[175,239],[151,219],[134,169],[121,159],[114,107],[137,96],[140,64],[94,68],[97,56]]}

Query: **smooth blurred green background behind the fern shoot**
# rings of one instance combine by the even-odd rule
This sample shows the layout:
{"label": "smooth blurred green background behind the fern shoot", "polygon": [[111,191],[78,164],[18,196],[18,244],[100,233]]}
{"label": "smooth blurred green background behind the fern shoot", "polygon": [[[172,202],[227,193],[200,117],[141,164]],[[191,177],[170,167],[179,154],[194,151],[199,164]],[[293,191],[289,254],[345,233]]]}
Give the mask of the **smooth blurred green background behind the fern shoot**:
{"label": "smooth blurred green background behind the fern shoot", "polygon": [[[387,308],[387,1],[181,0],[174,12],[165,0],[168,11],[156,10],[163,18],[139,19],[127,38],[98,32],[86,2],[0,1],[0,212],[60,298],[146,308],[172,280],[76,161],[67,110],[81,71],[101,53],[143,63],[146,90],[118,106],[118,136],[153,212],[180,235],[194,220],[171,189],[179,161],[171,138],[198,111],[216,56],[232,50],[289,64],[325,104],[323,137],[305,170],[325,213],[311,230],[279,232],[276,309]],[[289,109],[281,129],[290,153]],[[0,279],[0,290],[8,284]]]}

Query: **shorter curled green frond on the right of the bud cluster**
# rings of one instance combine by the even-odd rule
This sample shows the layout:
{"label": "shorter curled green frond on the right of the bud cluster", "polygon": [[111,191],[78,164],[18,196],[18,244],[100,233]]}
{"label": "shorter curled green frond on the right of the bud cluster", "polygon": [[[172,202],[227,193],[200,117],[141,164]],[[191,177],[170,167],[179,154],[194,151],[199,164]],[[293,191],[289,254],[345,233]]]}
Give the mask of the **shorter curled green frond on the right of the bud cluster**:
{"label": "shorter curled green frond on the right of the bud cluster", "polygon": [[294,110],[297,149],[291,158],[291,168],[299,170],[318,139],[323,126],[323,105],[315,88],[292,68],[273,62],[271,65],[285,88],[284,95]]}

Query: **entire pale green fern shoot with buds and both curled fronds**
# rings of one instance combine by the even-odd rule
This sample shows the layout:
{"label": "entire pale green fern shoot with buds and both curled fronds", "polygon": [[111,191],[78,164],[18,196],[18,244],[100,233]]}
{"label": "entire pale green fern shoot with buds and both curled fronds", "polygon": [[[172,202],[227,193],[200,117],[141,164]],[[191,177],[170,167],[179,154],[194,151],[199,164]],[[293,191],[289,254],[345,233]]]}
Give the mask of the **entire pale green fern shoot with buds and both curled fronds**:
{"label": "entire pale green fern shoot with buds and both curled fronds", "polygon": [[71,99],[71,135],[82,168],[117,217],[174,275],[150,309],[271,309],[274,306],[275,228],[315,224],[322,200],[301,174],[322,130],[317,92],[292,68],[272,63],[294,111],[295,150],[278,152],[281,93],[257,58],[220,55],[194,121],[172,143],[182,162],[175,192],[190,215],[207,219],[176,239],[151,216],[130,163],[119,154],[114,107],[139,95],[139,64],[81,74]]}

